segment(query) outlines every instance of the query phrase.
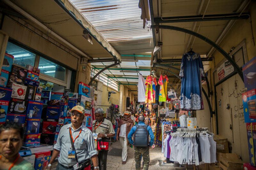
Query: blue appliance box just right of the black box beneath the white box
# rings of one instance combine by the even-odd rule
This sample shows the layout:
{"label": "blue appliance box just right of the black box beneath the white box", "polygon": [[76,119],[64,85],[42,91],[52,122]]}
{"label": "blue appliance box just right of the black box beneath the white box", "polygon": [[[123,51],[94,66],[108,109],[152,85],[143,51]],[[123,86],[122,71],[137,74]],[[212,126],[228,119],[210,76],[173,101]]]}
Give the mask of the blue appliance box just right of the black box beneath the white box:
{"label": "blue appliance box just right of the black box beneath the white box", "polygon": [[43,102],[28,100],[27,118],[40,118],[43,110]]}

